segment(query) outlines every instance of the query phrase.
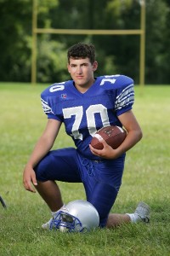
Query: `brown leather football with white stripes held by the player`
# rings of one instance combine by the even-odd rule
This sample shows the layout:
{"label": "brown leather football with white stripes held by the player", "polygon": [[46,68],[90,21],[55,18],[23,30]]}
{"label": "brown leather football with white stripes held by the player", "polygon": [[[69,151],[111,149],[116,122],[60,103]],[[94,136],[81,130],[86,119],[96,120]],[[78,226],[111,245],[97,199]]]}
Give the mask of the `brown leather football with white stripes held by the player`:
{"label": "brown leather football with white stripes held by the player", "polygon": [[90,144],[96,149],[103,149],[103,144],[100,141],[104,139],[111,148],[116,149],[122,144],[126,136],[127,131],[122,127],[116,125],[106,126],[94,134]]}

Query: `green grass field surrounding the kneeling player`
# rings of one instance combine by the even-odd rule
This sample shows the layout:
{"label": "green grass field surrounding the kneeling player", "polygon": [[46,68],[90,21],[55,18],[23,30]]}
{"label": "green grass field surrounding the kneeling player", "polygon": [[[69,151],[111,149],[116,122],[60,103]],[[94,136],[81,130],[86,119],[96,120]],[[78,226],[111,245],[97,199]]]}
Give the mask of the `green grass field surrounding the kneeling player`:
{"label": "green grass field surrounding the kneeling player", "polygon": [[[45,124],[40,92],[45,85],[0,84],[0,255],[170,255],[170,86],[135,88],[133,111],[144,138],[127,153],[122,188],[112,212],[133,212],[139,201],[151,207],[150,224],[116,230],[62,234],[42,230],[50,217],[37,194],[22,186],[22,172]],[[54,148],[71,146],[59,133]],[[59,183],[65,203],[85,199],[82,184]]]}

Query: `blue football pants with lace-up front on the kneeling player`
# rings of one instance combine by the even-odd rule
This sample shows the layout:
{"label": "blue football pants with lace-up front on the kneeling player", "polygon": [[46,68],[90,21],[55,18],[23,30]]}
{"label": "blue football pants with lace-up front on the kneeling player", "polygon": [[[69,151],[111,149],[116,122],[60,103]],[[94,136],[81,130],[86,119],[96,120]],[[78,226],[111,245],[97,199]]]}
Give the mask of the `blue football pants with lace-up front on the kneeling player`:
{"label": "blue football pants with lace-up front on the kneeling player", "polygon": [[50,151],[35,167],[35,172],[41,182],[83,183],[87,201],[99,212],[99,226],[105,227],[122,183],[124,160],[125,154],[116,160],[89,160],[76,148],[61,148]]}

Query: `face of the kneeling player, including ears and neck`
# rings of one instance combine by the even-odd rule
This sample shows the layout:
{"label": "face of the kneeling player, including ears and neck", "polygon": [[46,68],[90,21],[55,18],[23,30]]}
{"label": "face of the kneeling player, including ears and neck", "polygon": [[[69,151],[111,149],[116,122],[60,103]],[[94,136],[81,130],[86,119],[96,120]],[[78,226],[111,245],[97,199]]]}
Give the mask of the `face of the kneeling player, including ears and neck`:
{"label": "face of the kneeling player, including ears and neck", "polygon": [[94,71],[98,67],[97,61],[92,64],[88,58],[76,60],[71,58],[67,67],[77,90],[86,91],[94,84]]}

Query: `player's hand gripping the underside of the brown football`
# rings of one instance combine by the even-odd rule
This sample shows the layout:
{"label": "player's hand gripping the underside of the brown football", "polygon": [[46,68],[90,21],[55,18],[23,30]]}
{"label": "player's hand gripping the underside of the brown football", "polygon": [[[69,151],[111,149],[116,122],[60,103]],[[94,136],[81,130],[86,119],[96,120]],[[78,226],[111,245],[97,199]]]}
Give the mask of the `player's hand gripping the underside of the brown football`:
{"label": "player's hand gripping the underside of the brown football", "polygon": [[120,154],[118,153],[118,150],[111,148],[105,140],[101,140],[100,143],[103,144],[103,149],[95,149],[92,147],[92,145],[89,144],[89,148],[92,152],[92,154],[95,154],[101,158],[105,159],[116,159]]}

